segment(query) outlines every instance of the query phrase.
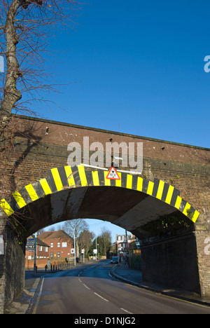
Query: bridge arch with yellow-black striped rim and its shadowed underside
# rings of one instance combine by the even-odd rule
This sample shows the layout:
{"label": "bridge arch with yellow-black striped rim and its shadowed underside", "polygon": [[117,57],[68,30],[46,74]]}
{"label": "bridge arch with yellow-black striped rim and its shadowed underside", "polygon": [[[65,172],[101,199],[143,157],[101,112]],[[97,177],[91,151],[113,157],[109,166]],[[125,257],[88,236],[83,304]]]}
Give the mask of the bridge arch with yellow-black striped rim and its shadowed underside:
{"label": "bridge arch with yellow-black striped rim and its shadowed underside", "polygon": [[200,215],[181,198],[179,190],[162,180],[151,182],[123,172],[118,172],[120,180],[110,180],[107,175],[108,171],[83,165],[53,168],[48,177],[15,191],[10,199],[1,200],[0,206],[8,217],[18,214],[29,234],[59,221],[93,218],[110,221],[138,236],[160,217],[193,224]]}

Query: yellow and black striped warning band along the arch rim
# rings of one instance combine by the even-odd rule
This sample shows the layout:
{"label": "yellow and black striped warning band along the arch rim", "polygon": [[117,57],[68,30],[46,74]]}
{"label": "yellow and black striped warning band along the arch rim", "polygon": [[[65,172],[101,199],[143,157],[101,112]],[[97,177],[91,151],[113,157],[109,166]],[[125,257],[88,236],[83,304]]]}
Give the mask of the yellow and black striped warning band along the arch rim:
{"label": "yellow and black striped warning band along the arch rim", "polygon": [[74,168],[64,166],[48,170],[48,177],[33,184],[28,184],[20,191],[15,191],[11,200],[0,200],[0,206],[8,216],[25,207],[27,204],[38,200],[50,193],[56,193],[67,188],[78,186],[117,186],[146,193],[163,202],[172,205],[181,211],[193,222],[197,221],[200,213],[197,212],[186,200],[180,197],[180,191],[174,186],[159,179],[148,181],[136,175],[118,172],[120,180],[106,179],[108,171],[90,170],[83,165]]}

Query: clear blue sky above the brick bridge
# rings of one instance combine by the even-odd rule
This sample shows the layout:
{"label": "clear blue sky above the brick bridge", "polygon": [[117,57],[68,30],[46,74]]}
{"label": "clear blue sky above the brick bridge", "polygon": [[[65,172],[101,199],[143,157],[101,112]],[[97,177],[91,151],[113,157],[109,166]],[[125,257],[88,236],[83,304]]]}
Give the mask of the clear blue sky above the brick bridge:
{"label": "clear blue sky above the brick bridge", "polygon": [[71,84],[43,116],[209,148],[209,1],[88,3],[50,39],[49,81]]}

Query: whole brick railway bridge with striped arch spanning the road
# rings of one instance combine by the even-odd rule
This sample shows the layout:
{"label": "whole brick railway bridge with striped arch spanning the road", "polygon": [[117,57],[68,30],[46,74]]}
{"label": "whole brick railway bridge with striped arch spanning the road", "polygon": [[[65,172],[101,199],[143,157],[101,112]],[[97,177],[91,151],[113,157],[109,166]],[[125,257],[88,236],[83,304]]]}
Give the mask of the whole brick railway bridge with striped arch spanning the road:
{"label": "whole brick railway bridge with striped arch spanning the road", "polygon": [[[210,295],[209,149],[26,116],[13,116],[6,133],[13,150],[0,163],[0,313],[24,287],[26,238],[76,218],[137,235],[145,281]],[[68,145],[83,145],[83,137],[104,149],[106,142],[143,143],[141,175],[119,165],[120,180],[110,180],[105,168],[69,166]]]}

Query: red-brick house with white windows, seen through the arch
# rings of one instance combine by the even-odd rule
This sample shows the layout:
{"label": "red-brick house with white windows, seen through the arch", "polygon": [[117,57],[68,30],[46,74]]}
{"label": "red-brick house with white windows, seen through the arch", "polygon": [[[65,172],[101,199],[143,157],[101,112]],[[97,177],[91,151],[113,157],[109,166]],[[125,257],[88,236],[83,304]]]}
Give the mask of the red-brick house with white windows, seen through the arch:
{"label": "red-brick house with white windows, seen through the arch", "polygon": [[73,258],[73,238],[64,231],[44,231],[38,238],[50,246],[49,258]]}

